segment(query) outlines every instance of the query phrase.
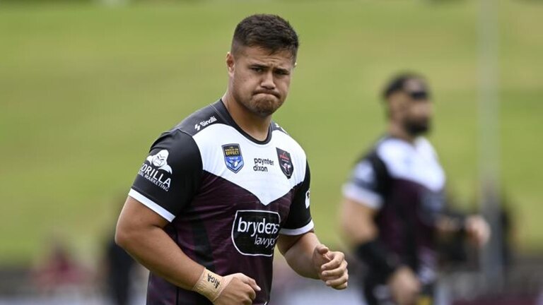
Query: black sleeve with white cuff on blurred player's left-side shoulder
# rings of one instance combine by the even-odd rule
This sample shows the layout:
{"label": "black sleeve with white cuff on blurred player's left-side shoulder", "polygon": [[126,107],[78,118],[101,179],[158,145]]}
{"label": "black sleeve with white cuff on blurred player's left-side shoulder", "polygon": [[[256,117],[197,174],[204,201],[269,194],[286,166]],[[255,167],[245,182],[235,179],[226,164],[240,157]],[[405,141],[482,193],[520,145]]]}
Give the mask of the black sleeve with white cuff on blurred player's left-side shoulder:
{"label": "black sleeve with white cuff on blurred player's left-side shoulder", "polygon": [[369,156],[355,165],[351,178],[343,186],[343,196],[370,208],[380,209],[386,184],[385,165],[378,157]]}

